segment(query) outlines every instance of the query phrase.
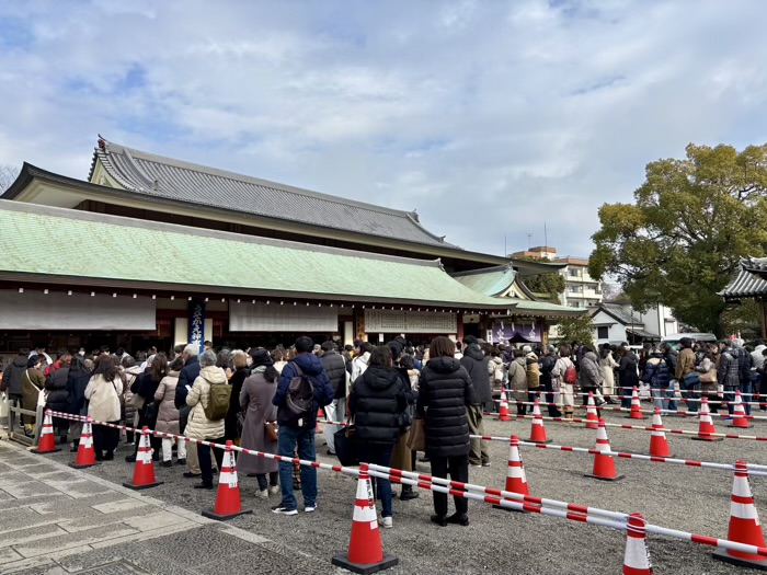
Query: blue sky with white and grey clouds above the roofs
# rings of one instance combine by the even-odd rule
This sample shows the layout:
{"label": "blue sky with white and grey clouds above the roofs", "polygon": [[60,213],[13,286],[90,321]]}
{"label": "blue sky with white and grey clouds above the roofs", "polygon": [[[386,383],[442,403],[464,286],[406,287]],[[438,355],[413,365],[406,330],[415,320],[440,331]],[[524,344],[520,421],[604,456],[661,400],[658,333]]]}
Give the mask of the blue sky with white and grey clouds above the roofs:
{"label": "blue sky with white and grey clouds above the roofs", "polygon": [[101,134],[583,256],[648,162],[767,142],[765,30],[757,0],[3,0],[0,164],[84,180]]}

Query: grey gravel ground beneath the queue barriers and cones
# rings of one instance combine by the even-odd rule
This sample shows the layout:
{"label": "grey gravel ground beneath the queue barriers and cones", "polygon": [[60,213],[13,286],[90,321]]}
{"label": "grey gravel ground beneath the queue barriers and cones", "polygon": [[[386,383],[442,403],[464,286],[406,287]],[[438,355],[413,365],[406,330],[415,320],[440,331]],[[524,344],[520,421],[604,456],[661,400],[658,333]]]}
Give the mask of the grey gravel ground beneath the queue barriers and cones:
{"label": "grey gravel ground beneath the queue barriers and cones", "polygon": [[[607,413],[606,419],[628,423],[625,415],[618,413]],[[651,423],[651,419],[644,422],[646,425]],[[695,419],[682,416],[666,417],[664,425],[674,429],[697,429]],[[725,429],[718,418],[714,418],[714,425],[719,432]],[[529,419],[485,419],[488,435],[517,434],[525,439],[529,436]],[[547,433],[559,445],[591,448],[595,441],[595,432],[582,425],[547,422]],[[648,453],[650,433],[609,427],[607,433],[614,450]],[[753,428],[744,433],[767,436],[767,421],[754,422]],[[725,439],[709,444],[677,435],[668,435],[668,441],[672,455],[679,458],[721,463],[744,459],[749,463],[767,463],[767,445],[760,441]],[[318,459],[337,463],[334,457],[324,455],[323,442],[323,436],[318,435]],[[128,452],[129,447],[122,445],[116,461],[85,472],[115,483],[129,480],[131,468],[123,461],[123,456]],[[491,441],[490,453],[492,465],[471,469],[470,481],[503,487],[508,446]],[[46,457],[68,462],[75,456],[65,451]],[[726,536],[732,490],[732,474],[729,472],[619,460],[616,462],[618,473],[626,474],[626,479],[606,483],[583,476],[584,472],[591,472],[592,456],[523,447],[522,457],[534,495],[616,511],[641,513],[648,521],[663,527],[720,538]],[[419,463],[419,470],[428,472],[428,464]],[[193,490],[194,480],[184,479],[181,473],[179,467],[158,468],[158,480],[165,481],[165,484],[149,490],[147,495],[191,510],[211,507],[215,492]],[[351,476],[322,470],[318,475],[318,511],[295,517],[268,513],[278,498],[256,499],[255,478],[241,476],[243,506],[254,509],[254,514],[239,517],[232,524],[283,545],[295,547],[297,552],[325,559],[327,573],[339,573],[330,564],[330,559],[348,544],[356,482]],[[757,509],[765,517],[767,481],[765,478],[751,478],[749,481]],[[399,486],[396,492],[399,492]],[[394,502],[394,528],[381,530],[385,551],[400,559],[400,564],[389,573],[540,574],[563,571],[573,575],[606,575],[621,570],[625,536],[618,531],[538,514],[506,513],[479,502],[469,504],[469,527],[439,528],[430,522],[432,513],[428,492],[422,491],[419,499]],[[655,573],[734,575],[742,571],[713,561],[712,549],[703,545],[651,537],[649,549]]]}

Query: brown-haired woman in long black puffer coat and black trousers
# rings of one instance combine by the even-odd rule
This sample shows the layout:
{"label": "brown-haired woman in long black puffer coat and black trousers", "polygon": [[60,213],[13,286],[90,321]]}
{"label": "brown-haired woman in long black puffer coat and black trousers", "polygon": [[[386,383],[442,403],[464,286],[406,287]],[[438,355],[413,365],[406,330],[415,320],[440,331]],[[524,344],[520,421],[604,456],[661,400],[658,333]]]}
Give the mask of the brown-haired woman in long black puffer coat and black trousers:
{"label": "brown-haired woman in long black puffer coat and black trousers", "polygon": [[[432,475],[453,481],[469,481],[469,422],[466,409],[474,401],[469,372],[455,358],[456,347],[448,337],[435,337],[430,346],[428,364],[419,378],[417,413],[425,418],[426,456]],[[432,521],[469,525],[469,502],[455,497],[456,513],[447,517],[447,494],[434,492]]]}

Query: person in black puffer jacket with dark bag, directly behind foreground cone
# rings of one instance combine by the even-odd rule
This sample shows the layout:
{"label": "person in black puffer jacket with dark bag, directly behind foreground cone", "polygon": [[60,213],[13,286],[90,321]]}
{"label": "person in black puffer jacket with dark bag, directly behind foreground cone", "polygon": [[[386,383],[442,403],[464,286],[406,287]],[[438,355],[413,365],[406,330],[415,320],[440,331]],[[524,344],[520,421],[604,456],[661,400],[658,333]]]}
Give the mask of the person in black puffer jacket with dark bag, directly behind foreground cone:
{"label": "person in black puffer jacket with dark bag, directly behind foreground cone", "polygon": [[[392,367],[388,346],[375,347],[365,372],[354,382],[348,409],[359,444],[359,461],[391,465],[391,451],[400,437],[402,414],[412,404],[412,395],[400,372]],[[391,482],[374,479],[381,499],[381,527],[392,527]]]}

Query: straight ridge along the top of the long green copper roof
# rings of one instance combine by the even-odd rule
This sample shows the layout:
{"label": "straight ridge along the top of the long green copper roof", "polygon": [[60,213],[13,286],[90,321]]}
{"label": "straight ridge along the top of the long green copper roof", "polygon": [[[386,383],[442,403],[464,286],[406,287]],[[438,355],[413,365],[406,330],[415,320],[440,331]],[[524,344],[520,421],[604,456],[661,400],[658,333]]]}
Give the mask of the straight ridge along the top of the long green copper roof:
{"label": "straight ridge along the top of the long green copper roof", "polygon": [[273,245],[275,248],[287,248],[294,250],[302,250],[305,252],[328,253],[335,255],[344,255],[350,257],[363,257],[367,260],[379,260],[385,262],[399,262],[423,267],[442,267],[439,258],[436,260],[417,260],[414,257],[403,257],[399,255],[379,254],[374,252],[363,252],[358,250],[348,250],[344,248],[334,248],[330,245],[307,244],[290,240],[279,240],[276,238],[263,238],[261,235],[249,235],[236,233],[231,231],[210,230],[207,228],[195,228],[192,226],[182,226],[180,223],[168,223],[163,221],[148,221],[138,218],[129,218],[125,216],[113,216],[111,214],[96,214],[71,208],[60,208],[56,206],[43,206],[39,204],[26,204],[22,202],[13,202],[10,199],[0,198],[0,210],[21,211],[26,214],[42,214],[54,218],[79,219],[83,221],[94,221],[99,223],[110,223],[113,226],[125,226],[137,229],[164,230],[170,233],[181,233],[183,235],[197,235],[206,238],[218,238],[222,240],[239,241],[245,243],[256,243],[262,245]]}

